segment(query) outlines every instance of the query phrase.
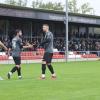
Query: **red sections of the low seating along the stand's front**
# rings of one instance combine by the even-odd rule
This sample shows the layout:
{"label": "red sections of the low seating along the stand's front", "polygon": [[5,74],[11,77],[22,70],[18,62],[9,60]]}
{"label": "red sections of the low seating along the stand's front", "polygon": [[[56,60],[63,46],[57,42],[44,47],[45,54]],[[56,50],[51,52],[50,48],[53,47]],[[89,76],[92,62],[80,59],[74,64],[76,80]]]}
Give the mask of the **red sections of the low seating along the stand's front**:
{"label": "red sections of the low seating along the stand's front", "polygon": [[[33,52],[22,52],[21,53],[21,59],[22,60],[35,60],[35,59],[42,59],[44,54],[44,49],[38,49],[38,55],[34,55]],[[96,54],[85,54],[81,55],[82,58],[98,58]],[[64,59],[65,55],[54,53],[53,54],[54,59]],[[0,61],[8,60],[7,55],[0,55]]]}

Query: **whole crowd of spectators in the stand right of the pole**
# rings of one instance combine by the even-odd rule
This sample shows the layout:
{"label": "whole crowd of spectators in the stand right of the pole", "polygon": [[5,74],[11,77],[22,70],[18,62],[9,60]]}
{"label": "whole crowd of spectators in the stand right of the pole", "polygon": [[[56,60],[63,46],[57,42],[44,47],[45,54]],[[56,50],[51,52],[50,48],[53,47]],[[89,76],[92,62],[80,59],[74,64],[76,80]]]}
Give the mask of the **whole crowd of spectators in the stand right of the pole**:
{"label": "whole crowd of spectators in the stand right of the pole", "polygon": [[70,51],[100,51],[100,34],[73,33],[69,36]]}

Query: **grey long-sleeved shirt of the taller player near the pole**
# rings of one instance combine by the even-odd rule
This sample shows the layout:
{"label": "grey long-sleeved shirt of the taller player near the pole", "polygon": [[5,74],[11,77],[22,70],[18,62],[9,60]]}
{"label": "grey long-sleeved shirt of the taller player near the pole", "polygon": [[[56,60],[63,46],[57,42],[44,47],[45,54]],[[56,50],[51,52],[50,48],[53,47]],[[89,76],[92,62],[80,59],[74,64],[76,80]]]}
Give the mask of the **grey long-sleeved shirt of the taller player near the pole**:
{"label": "grey long-sleeved shirt of the taller player near the pole", "polygon": [[45,52],[53,53],[53,34],[52,32],[47,32],[45,38],[42,41],[41,45],[44,46]]}

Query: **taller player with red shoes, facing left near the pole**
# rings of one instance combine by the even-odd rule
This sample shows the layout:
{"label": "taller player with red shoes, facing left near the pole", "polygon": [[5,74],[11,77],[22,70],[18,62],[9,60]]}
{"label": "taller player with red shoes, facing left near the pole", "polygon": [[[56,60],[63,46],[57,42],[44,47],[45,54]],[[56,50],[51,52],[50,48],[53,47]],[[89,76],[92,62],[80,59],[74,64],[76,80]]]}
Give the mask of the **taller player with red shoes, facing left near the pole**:
{"label": "taller player with red shoes, facing left near the pole", "polygon": [[42,60],[42,76],[41,79],[45,79],[46,65],[52,74],[52,79],[56,79],[56,74],[52,67],[52,57],[53,57],[53,34],[49,30],[49,25],[43,25],[43,32],[45,33],[44,40],[40,43],[40,46],[44,47],[45,53]]}

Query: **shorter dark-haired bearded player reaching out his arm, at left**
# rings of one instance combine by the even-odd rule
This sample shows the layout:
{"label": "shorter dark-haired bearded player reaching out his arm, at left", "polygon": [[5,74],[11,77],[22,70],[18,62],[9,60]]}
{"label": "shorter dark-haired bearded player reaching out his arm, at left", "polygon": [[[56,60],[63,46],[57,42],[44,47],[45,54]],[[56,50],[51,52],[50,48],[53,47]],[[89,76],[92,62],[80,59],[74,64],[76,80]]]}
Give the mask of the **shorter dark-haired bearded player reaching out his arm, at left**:
{"label": "shorter dark-haired bearded player reaching out his arm, at left", "polygon": [[20,66],[20,64],[21,64],[21,55],[20,55],[21,50],[22,50],[22,48],[32,48],[32,45],[23,46],[21,36],[22,36],[22,31],[20,29],[17,29],[15,31],[15,37],[12,39],[12,45],[10,47],[10,49],[12,51],[12,57],[13,57],[13,60],[15,62],[15,66],[8,73],[8,75],[7,75],[8,79],[10,79],[12,74],[16,71],[18,73],[19,79],[22,79],[21,66]]}

